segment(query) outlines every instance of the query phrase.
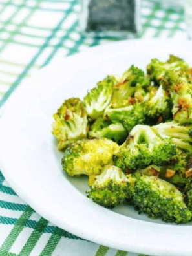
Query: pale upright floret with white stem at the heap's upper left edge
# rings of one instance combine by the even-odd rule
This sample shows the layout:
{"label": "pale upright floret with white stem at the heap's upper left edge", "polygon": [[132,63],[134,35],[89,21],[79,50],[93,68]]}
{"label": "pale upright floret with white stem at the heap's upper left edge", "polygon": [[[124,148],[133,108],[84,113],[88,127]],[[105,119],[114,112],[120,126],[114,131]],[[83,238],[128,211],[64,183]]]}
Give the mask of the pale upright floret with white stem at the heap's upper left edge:
{"label": "pale upright floret with white stem at the heap's upper left edge", "polygon": [[114,76],[107,76],[92,89],[84,98],[88,116],[94,120],[103,115],[105,108],[111,103],[114,85],[117,83]]}

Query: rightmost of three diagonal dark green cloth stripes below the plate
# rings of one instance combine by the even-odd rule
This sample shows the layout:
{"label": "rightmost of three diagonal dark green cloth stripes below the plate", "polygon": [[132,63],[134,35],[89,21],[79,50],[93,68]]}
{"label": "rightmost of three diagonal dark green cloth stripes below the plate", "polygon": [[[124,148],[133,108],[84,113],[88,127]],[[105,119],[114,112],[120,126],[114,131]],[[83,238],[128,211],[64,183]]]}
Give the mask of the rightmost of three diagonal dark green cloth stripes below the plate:
{"label": "rightmost of three diagonal dark green cloth stripes below the plate", "polygon": [[45,248],[41,252],[39,256],[50,256],[52,252],[55,250],[56,246],[58,245],[59,240],[63,235],[63,230],[60,228],[56,228],[50,239],[48,240]]}

